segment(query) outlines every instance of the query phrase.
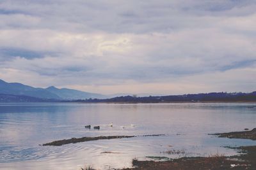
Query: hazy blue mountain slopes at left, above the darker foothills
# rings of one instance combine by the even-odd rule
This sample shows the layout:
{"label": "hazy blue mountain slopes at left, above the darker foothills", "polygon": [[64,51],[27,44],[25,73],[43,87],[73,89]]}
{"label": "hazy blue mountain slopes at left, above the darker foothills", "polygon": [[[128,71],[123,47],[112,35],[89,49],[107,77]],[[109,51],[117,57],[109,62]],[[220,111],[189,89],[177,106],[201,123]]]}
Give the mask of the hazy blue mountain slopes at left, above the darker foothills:
{"label": "hazy blue mountain slopes at left, above the darker foothills", "polygon": [[[7,83],[6,81],[0,80],[0,94],[1,98],[6,99],[6,97],[12,96],[23,96],[28,97],[28,99],[33,99],[31,97],[35,97],[36,99],[52,99],[52,100],[76,100],[76,99],[104,99],[108,98],[102,94],[95,94],[90,92],[83,92],[79,90],[73,89],[58,89],[54,86],[47,88],[35,88],[29,85],[23,85],[22,83]],[[8,95],[8,96],[6,96]],[[30,97],[30,98],[29,98]],[[21,99],[20,97],[17,97]]]}

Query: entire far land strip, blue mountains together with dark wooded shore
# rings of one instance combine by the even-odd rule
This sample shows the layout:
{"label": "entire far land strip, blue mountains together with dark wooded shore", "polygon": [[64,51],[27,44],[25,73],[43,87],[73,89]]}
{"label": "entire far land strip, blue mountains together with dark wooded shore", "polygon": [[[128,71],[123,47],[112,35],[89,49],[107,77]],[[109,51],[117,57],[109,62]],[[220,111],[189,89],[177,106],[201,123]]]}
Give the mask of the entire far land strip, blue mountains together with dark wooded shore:
{"label": "entire far land strip, blue mountains together with dark wooded shore", "polygon": [[[119,96],[119,97],[118,97]],[[143,97],[144,96],[144,97]],[[256,102],[256,92],[208,94],[184,94],[175,96],[150,96],[146,94],[114,94],[104,96],[74,89],[58,89],[54,86],[35,88],[22,83],[7,83],[0,80],[0,103],[33,102],[83,102],[83,103],[169,103],[169,102]]]}

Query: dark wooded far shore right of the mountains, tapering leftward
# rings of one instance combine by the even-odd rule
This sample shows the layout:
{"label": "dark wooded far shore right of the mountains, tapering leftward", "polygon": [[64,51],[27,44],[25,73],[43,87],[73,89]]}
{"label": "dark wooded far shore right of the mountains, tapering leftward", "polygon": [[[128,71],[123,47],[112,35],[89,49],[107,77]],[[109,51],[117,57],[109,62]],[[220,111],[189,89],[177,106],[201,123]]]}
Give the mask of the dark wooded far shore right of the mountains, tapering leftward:
{"label": "dark wooded far shore right of the mountains, tapering leftward", "polygon": [[72,102],[84,103],[169,103],[169,102],[239,102],[239,101],[256,101],[256,92],[252,93],[227,93],[212,92],[207,94],[184,94],[175,96],[120,96],[111,99],[86,99]]}

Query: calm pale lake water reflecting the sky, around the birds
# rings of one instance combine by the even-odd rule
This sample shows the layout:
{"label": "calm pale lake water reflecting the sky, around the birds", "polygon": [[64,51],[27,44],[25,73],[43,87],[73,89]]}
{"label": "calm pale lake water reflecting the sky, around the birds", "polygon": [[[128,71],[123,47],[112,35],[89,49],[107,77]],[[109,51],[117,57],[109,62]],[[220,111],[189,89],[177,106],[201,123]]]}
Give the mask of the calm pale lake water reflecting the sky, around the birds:
{"label": "calm pale lake water reflecting the sky, around the birds", "polygon": [[[113,127],[108,127],[110,122]],[[88,124],[100,125],[100,131],[84,129]],[[256,104],[250,103],[0,104],[0,169],[108,169],[131,167],[135,157],[234,155],[221,146],[256,142],[208,134],[254,127]],[[39,146],[57,139],[143,134],[166,135]],[[163,153],[173,149],[185,153]]]}

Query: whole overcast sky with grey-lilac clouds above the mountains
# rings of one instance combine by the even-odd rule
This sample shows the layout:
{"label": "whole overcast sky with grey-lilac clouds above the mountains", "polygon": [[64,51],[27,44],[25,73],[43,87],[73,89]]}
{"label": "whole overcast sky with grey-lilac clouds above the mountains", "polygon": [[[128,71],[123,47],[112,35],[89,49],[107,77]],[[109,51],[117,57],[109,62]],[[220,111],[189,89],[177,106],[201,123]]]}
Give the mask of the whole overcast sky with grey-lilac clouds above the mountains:
{"label": "whole overcast sky with grey-lilac clouds above the mountains", "polygon": [[255,9],[255,0],[1,0],[0,79],[100,94],[252,92]]}

